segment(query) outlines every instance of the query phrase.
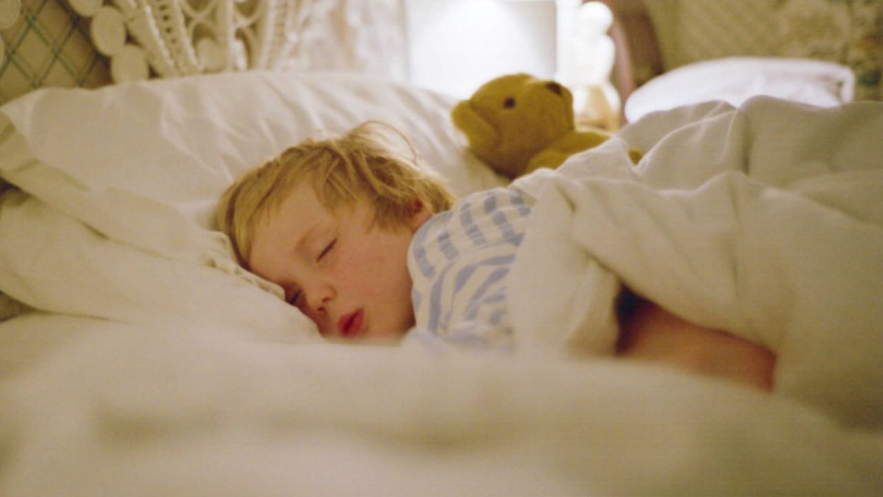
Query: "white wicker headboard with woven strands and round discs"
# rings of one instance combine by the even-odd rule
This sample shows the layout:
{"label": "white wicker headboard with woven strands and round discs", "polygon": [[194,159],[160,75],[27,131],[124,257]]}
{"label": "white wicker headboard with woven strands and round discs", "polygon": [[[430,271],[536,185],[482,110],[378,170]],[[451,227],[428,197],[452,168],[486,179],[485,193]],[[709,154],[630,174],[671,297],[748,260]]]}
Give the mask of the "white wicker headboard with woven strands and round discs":
{"label": "white wicker headboard with woven strands and round discs", "polygon": [[[76,6],[83,0],[72,1]],[[297,45],[310,0],[105,0],[93,18],[95,47],[117,82],[274,69]],[[126,41],[126,32],[129,42]]]}

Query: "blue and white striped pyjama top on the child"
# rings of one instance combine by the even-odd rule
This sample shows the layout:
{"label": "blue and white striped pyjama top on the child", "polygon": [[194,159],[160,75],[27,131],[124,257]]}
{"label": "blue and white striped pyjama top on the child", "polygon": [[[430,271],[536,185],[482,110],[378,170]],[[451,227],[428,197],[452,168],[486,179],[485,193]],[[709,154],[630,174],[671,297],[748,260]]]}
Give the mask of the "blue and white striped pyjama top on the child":
{"label": "blue and white striped pyjama top on the child", "polygon": [[432,347],[514,349],[506,277],[525,236],[532,200],[517,188],[465,197],[415,233],[408,256],[417,325],[409,340]]}

